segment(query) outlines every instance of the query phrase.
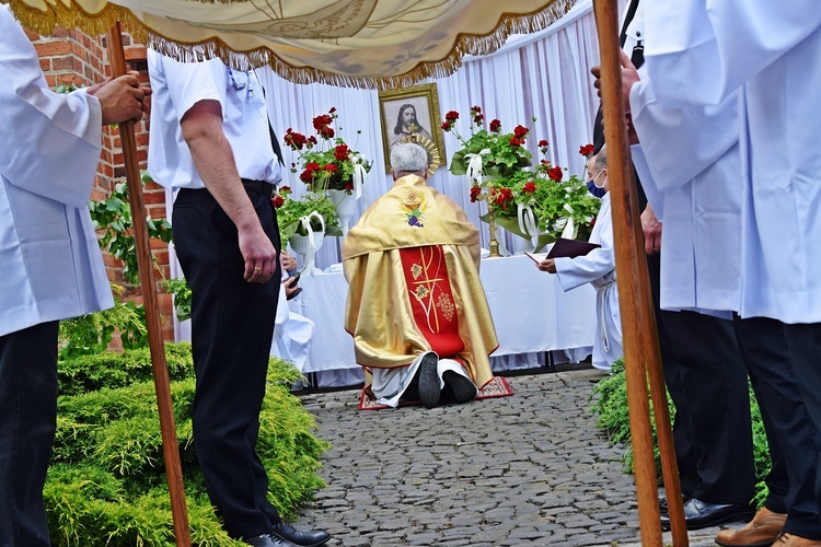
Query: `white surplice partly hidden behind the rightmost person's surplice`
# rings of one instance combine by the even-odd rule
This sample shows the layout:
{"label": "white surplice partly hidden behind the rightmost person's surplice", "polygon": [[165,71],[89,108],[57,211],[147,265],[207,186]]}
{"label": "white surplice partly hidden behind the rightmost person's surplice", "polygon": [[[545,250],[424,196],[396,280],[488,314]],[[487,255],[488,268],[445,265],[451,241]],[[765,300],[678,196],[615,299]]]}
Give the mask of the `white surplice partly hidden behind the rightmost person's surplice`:
{"label": "white surplice partly hidden behind the rightmost person's surplice", "polygon": [[[639,16],[643,7],[644,1],[627,30],[634,40],[651,38]],[[646,65],[638,72],[631,114],[640,146],[632,155],[663,222],[661,307],[729,317],[739,309],[741,290],[738,93],[718,106],[664,109],[655,100]]]}

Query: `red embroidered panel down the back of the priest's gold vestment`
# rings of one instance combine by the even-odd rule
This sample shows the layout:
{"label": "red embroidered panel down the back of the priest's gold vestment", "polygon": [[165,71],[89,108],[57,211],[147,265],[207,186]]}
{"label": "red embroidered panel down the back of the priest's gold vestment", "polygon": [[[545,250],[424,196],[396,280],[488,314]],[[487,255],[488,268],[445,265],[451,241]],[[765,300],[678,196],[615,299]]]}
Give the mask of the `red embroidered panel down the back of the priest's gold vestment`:
{"label": "red embroidered panel down the back of the priest's gold vestment", "polygon": [[416,326],[440,359],[464,365],[456,357],[465,345],[459,335],[459,313],[441,245],[401,248],[400,257]]}

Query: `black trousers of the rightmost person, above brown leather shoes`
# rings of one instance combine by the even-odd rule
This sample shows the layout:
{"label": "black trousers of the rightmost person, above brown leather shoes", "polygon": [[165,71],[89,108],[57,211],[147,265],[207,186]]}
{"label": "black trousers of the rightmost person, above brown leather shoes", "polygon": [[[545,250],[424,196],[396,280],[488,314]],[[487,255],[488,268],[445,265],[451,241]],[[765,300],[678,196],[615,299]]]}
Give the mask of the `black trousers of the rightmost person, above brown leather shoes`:
{"label": "black trousers of the rightmost person, above brown leather shoes", "polygon": [[787,513],[784,532],[821,539],[821,324],[735,324],[773,456],[765,504]]}

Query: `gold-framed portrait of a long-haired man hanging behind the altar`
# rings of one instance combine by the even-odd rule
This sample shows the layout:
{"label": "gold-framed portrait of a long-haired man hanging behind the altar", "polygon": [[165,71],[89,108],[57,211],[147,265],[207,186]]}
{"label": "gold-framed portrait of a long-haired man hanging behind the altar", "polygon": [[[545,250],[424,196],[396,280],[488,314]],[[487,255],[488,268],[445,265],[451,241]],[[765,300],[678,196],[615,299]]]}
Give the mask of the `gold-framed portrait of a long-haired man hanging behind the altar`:
{"label": "gold-framed portrait of a long-haired man hanging behind the altar", "polygon": [[435,83],[380,91],[379,117],[385,173],[391,172],[391,147],[400,140],[425,143],[431,174],[446,164],[439,95]]}

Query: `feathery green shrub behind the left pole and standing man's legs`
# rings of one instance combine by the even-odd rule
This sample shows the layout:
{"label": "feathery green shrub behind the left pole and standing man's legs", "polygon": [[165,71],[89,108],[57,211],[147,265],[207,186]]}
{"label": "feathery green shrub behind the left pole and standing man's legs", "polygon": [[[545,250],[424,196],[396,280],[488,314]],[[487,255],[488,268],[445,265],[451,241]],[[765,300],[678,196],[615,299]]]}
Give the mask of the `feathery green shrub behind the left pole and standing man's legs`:
{"label": "feathery green shrub behind the left pole and standing man's legs", "polygon": [[[188,345],[166,345],[171,393],[192,540],[236,545],[205,492],[192,439],[193,365]],[[44,490],[55,546],[174,545],[162,439],[149,351],[101,353],[58,365],[61,396],[51,466]],[[257,452],[268,469],[269,500],[285,519],[323,488],[316,475],[326,442],[290,394],[301,377],[271,359]]]}

